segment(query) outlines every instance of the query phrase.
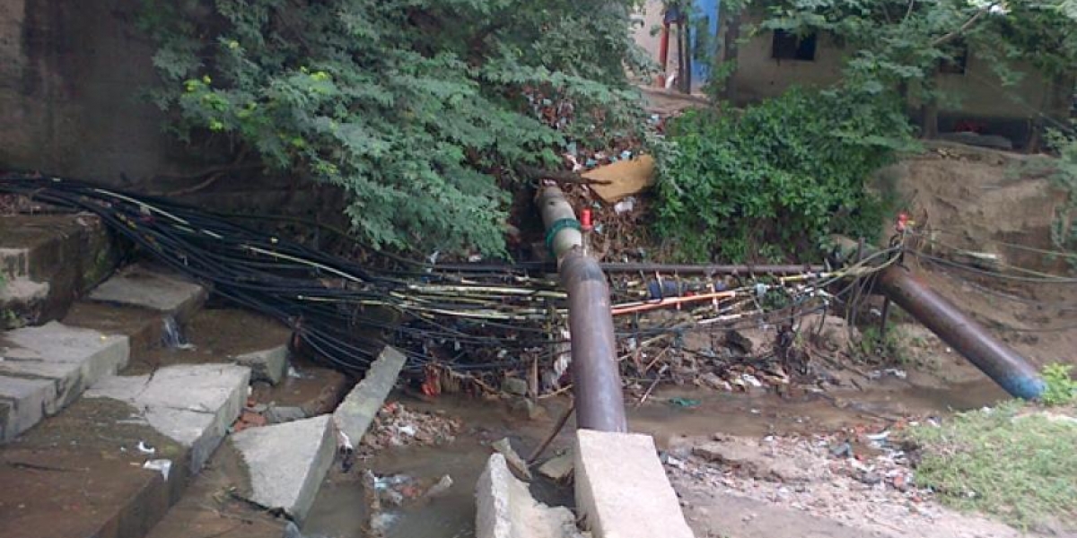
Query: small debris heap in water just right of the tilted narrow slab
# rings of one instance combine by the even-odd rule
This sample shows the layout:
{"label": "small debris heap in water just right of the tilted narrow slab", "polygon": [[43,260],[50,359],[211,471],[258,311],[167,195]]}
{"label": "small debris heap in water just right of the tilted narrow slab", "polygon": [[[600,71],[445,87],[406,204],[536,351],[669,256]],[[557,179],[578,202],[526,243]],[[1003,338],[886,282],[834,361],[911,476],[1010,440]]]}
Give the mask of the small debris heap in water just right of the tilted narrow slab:
{"label": "small debris heap in water just right of the tilted narrow slab", "polygon": [[411,411],[392,401],[378,411],[370,429],[363,436],[360,451],[377,452],[390,447],[434,445],[452,442],[461,423],[444,413]]}

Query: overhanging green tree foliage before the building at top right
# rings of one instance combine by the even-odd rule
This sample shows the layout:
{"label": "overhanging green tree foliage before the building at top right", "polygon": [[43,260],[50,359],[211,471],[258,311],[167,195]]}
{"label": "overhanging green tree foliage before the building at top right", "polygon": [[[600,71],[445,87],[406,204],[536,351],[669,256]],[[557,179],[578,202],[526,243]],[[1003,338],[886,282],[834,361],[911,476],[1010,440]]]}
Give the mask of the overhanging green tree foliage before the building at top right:
{"label": "overhanging green tree foliage before the building at top right", "polygon": [[[847,88],[867,93],[899,90],[920,102],[959,101],[937,87],[937,74],[966,51],[991,66],[1004,84],[1030,73],[1022,60],[1052,82],[1077,69],[1077,32],[1066,17],[1072,2],[1040,0],[772,0],[760,2],[769,16],[760,29],[796,34],[825,33],[849,54]],[[1032,109],[1025,96],[1007,98]]]}

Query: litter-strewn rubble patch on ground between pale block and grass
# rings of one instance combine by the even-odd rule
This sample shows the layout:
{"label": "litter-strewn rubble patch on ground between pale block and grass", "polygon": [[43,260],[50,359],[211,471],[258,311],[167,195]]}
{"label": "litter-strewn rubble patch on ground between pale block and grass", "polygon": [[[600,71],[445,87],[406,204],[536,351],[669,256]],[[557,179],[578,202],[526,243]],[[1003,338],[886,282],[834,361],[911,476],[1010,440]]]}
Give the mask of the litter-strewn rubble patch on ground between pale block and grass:
{"label": "litter-strewn rubble patch on ground between pale block and grass", "polygon": [[[752,439],[715,436],[665,455],[675,486],[691,485],[782,505],[837,521],[900,525],[939,508],[918,487],[910,455],[890,431]],[[680,484],[680,485],[677,485]]]}

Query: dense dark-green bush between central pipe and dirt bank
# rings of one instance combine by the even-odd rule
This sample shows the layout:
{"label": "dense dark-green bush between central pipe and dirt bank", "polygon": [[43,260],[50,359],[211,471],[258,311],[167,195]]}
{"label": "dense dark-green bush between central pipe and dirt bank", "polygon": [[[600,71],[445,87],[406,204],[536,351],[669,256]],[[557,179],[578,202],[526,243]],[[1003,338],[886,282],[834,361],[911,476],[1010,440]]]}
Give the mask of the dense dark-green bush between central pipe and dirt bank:
{"label": "dense dark-green bush between central pipe and dirt bank", "polygon": [[855,93],[685,114],[659,155],[657,230],[688,260],[814,258],[830,233],[873,238],[884,208],[865,181],[908,137],[894,100]]}

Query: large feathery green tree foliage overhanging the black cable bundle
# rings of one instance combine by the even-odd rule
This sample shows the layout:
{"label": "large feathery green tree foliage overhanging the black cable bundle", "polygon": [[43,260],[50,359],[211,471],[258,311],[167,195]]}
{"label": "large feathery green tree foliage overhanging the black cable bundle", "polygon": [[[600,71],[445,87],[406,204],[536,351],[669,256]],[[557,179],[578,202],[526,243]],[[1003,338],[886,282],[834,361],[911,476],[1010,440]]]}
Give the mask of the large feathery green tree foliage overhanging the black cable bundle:
{"label": "large feathery green tree foliage overhanging the black cable bundle", "polygon": [[[143,0],[183,140],[338,185],[376,245],[503,252],[495,174],[640,118],[635,0]],[[553,128],[527,97],[567,98]]]}

